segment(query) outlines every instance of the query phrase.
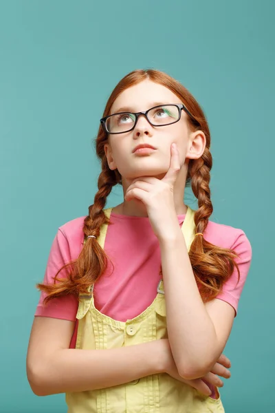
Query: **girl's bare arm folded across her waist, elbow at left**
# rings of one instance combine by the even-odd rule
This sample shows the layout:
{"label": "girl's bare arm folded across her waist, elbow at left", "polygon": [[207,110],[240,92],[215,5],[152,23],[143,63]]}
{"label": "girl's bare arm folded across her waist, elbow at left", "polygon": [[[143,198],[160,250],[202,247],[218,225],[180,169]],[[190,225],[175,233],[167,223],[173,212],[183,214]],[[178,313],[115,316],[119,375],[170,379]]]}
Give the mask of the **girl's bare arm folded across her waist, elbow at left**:
{"label": "girl's bare arm folded across her waist, elbow at left", "polygon": [[69,348],[73,331],[73,321],[35,317],[27,375],[37,396],[107,388],[164,371],[162,340],[110,350],[76,350]]}

